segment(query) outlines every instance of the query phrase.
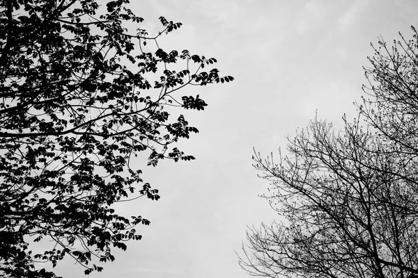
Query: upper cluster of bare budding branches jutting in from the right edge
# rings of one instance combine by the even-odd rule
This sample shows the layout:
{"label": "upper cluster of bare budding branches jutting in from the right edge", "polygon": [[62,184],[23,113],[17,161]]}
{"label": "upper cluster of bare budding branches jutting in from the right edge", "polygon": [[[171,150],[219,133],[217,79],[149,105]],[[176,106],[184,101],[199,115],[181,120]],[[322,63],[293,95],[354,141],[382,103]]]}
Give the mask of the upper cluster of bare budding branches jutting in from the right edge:
{"label": "upper cluster of bare budding branches jutting in from the right edge", "polygon": [[[373,47],[375,56],[369,58],[371,67],[364,68],[368,85],[364,92],[372,99],[363,98],[360,113],[386,144],[396,145],[403,153],[418,153],[417,63],[418,33],[412,26],[413,39],[387,43],[379,40]],[[374,108],[374,109],[373,109]]]}

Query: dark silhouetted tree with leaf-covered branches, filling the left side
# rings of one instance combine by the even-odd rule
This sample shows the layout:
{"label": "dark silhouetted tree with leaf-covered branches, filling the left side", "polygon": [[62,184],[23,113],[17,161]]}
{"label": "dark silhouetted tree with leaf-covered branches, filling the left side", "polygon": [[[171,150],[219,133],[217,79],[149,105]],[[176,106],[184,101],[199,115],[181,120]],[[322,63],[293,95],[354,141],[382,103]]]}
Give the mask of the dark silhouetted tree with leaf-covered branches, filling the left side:
{"label": "dark silhouetted tree with leaf-covered branches, filling the left side", "polygon": [[150,222],[113,208],[160,198],[132,160],[194,159],[175,146],[198,129],[173,114],[207,104],[177,91],[233,80],[203,71],[215,58],[161,49],[181,23],[160,17],[148,35],[128,3],[0,0],[0,277],[54,277],[36,262],[68,256],[101,271],[141,239],[134,226]]}

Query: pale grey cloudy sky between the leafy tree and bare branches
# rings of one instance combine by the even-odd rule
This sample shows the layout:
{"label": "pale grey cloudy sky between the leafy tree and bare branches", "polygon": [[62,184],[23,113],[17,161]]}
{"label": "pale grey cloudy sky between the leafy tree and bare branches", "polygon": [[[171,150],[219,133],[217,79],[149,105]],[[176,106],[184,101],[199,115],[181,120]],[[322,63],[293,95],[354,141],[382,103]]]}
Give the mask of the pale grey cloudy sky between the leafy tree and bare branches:
{"label": "pale grey cloudy sky between the leafy tree and bare branches", "polygon": [[[258,197],[268,183],[251,166],[253,147],[264,156],[285,149],[286,136],[316,111],[335,126],[344,113],[355,117],[370,42],[382,35],[392,43],[399,31],[409,39],[418,1],[152,0],[132,1],[131,8],[150,34],[160,30],[160,15],[182,22],[160,47],[215,57],[220,74],[235,81],[179,92],[208,103],[186,113],[200,133],[179,146],[196,161],[143,169],[162,198],[119,208],[151,224],[138,227],[142,240],[89,277],[250,277],[234,250],[241,253],[247,226],[278,220]],[[57,274],[81,272],[68,261]]]}

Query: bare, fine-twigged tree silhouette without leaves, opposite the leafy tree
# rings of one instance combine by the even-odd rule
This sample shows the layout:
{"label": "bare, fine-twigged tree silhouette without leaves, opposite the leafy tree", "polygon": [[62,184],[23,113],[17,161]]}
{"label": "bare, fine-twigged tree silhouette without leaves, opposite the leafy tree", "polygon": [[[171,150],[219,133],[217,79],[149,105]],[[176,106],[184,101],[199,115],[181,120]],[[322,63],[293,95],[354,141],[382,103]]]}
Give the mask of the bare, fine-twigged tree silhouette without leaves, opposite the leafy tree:
{"label": "bare, fine-twigged tree silhouette without leaves, opposite the leafy tree", "polygon": [[[247,232],[240,265],[265,277],[418,274],[418,37],[380,49],[359,117],[334,131],[315,119],[288,155],[253,157],[281,222]],[[362,126],[364,121],[365,126]]]}

